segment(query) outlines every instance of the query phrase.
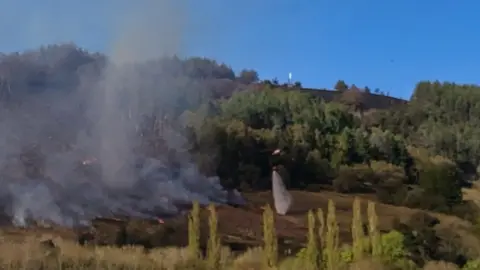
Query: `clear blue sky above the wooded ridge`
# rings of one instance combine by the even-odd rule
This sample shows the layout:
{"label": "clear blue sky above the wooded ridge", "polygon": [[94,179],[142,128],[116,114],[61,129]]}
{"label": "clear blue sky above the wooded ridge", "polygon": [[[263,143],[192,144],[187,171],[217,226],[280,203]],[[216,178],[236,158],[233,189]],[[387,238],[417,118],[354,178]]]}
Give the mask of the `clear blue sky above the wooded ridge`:
{"label": "clear blue sky above the wooded ridge", "polygon": [[0,51],[73,41],[108,53],[136,8],[169,17],[162,22],[178,28],[181,54],[263,79],[292,72],[307,87],[343,79],[402,98],[424,79],[480,84],[478,0],[179,1],[181,14],[148,0],[0,0]]}

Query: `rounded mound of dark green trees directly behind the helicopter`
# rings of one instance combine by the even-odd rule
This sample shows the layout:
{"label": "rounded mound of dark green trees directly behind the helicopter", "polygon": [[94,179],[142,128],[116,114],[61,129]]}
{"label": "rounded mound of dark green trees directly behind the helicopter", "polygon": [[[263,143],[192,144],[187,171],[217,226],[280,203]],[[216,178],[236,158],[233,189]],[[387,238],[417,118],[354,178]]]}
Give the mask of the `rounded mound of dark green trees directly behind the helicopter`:
{"label": "rounded mound of dark green trees directly behind the helicopter", "polygon": [[[379,129],[365,129],[348,108],[307,93],[282,89],[247,90],[218,103],[216,116],[197,128],[194,151],[225,184],[247,189],[269,187],[270,166],[282,164],[291,188],[329,183],[342,165],[385,160],[404,166],[405,142]],[[194,118],[194,117],[193,117]],[[194,123],[190,123],[194,126]],[[206,127],[208,125],[208,128]],[[271,149],[285,148],[272,157]],[[341,185],[340,185],[341,186]]]}

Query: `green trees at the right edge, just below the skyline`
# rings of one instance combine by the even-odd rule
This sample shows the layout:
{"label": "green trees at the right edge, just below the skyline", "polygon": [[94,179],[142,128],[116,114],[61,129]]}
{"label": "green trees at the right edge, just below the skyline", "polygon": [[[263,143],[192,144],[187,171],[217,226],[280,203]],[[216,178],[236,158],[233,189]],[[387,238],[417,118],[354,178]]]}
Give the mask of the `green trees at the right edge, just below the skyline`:
{"label": "green trees at the right edge, just below the skyline", "polygon": [[420,82],[408,106],[372,115],[371,125],[455,161],[471,177],[480,164],[479,86]]}

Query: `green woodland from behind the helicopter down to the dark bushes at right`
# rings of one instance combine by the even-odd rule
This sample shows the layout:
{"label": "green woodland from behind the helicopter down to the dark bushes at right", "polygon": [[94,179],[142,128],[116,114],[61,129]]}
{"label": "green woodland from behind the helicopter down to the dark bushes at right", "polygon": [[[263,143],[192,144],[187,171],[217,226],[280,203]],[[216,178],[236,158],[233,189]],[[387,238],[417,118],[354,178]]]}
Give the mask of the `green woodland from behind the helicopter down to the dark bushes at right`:
{"label": "green woodland from behind the helicopter down to the dark bushes at right", "polygon": [[[271,167],[278,166],[289,188],[332,184],[338,192],[375,192],[383,203],[436,211],[461,203],[457,164],[431,162],[428,149],[428,162],[415,159],[408,134],[385,121],[371,125],[339,103],[264,86],[209,104],[214,114],[190,117],[191,153],[202,172],[229,188],[270,188]],[[272,156],[276,148],[283,154]]]}

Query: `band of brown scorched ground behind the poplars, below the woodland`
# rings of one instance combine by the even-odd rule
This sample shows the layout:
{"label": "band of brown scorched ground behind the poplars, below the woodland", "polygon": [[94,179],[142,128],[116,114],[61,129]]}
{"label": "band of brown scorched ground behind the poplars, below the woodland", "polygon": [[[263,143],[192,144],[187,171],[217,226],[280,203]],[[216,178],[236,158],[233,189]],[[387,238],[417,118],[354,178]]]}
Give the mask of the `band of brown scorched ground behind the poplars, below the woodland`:
{"label": "band of brown scorched ground behind the poplars, below the woodland", "polygon": [[[352,195],[338,194],[330,191],[305,192],[292,191],[294,205],[287,216],[276,217],[276,229],[279,237],[280,249],[296,250],[303,246],[307,233],[306,214],[310,209],[321,208],[327,211],[328,200],[336,206],[337,221],[340,227],[342,242],[351,241],[351,208]],[[244,194],[249,205],[246,207],[218,206],[219,233],[225,245],[232,250],[243,251],[251,246],[262,245],[262,207],[267,203],[272,204],[270,192]],[[362,195],[359,195],[362,197]],[[368,198],[367,198],[368,199]],[[366,223],[366,199],[362,204],[364,221]],[[427,213],[406,207],[396,207],[377,203],[380,230],[391,230],[395,223],[407,222],[418,213]],[[479,243],[472,237],[472,224],[460,218],[428,213],[437,218],[439,224],[436,229],[455,231],[462,242],[465,241],[471,248],[478,248]],[[18,241],[29,235],[51,235],[67,240],[81,241],[84,244],[98,245],[142,245],[146,248],[159,246],[185,246],[188,242],[188,222],[185,216],[164,219],[160,224],[156,220],[140,219],[97,219],[93,221],[92,228],[15,228],[1,227],[2,235],[12,241]],[[208,236],[208,212],[201,211],[201,243],[205,246]],[[475,238],[476,239],[476,238]]]}

